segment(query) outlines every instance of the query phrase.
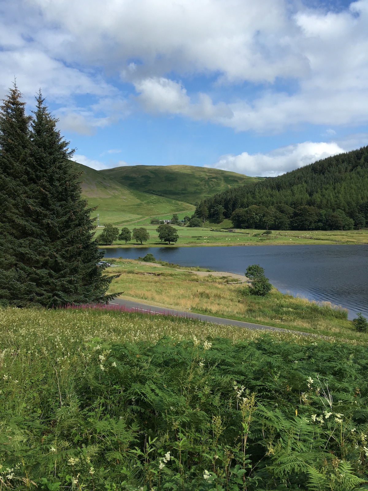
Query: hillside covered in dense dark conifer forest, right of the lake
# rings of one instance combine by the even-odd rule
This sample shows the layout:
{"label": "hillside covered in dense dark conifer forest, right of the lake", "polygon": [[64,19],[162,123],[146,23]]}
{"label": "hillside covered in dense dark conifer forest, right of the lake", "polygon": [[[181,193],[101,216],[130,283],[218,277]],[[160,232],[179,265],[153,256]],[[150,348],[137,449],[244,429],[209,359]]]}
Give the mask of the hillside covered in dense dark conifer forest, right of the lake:
{"label": "hillside covered in dense dark conifer forest, right of the lake", "polygon": [[221,218],[221,213],[241,228],[363,227],[368,221],[368,146],[215,194],[195,212],[200,218]]}

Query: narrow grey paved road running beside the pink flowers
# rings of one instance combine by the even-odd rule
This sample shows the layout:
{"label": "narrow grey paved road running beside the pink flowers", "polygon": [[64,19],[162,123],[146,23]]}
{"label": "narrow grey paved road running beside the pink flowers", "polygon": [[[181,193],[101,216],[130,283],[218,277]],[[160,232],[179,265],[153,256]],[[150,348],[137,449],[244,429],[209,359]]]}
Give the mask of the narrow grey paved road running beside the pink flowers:
{"label": "narrow grey paved road running beside the pink flowers", "polygon": [[[213,317],[211,315],[195,314],[191,312],[185,312],[183,310],[167,309],[164,307],[157,307],[155,305],[147,305],[146,303],[140,303],[133,300],[114,299],[109,302],[111,305],[122,305],[129,309],[136,309],[139,312],[149,312],[151,314],[163,314],[163,315],[177,315],[187,317],[191,319],[198,319],[199,321],[213,322],[215,324],[226,324],[230,326],[247,327],[248,329],[270,329],[273,331],[288,331],[288,329],[282,329],[280,327],[263,326],[261,324],[253,324],[251,322],[234,321],[233,319],[223,319],[222,317]],[[298,332],[298,331],[288,331]],[[301,333],[306,334],[306,333]]]}

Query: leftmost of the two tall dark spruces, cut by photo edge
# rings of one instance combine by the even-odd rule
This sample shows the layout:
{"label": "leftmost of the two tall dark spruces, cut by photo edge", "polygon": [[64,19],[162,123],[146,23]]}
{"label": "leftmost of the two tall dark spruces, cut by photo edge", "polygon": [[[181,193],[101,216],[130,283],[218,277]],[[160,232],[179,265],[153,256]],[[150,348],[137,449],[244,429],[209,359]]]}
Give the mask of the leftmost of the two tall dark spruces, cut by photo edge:
{"label": "leftmost of the two tall dark spruces, cut by photo edge", "polygon": [[16,83],[0,107],[0,303],[24,306],[36,299],[30,278],[42,253],[32,178],[30,117]]}

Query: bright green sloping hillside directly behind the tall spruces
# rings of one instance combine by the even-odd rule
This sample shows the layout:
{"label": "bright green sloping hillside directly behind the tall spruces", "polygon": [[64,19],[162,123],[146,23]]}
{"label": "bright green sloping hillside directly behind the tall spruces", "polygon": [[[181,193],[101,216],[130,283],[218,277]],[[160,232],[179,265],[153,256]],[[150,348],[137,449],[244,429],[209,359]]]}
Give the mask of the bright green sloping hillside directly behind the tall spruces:
{"label": "bright green sloping hillside directly behind the tall spruces", "polygon": [[100,214],[101,224],[120,224],[134,218],[194,210],[193,205],[184,201],[128,189],[101,171],[76,165],[83,171],[82,196],[90,206],[98,206],[95,213]]}

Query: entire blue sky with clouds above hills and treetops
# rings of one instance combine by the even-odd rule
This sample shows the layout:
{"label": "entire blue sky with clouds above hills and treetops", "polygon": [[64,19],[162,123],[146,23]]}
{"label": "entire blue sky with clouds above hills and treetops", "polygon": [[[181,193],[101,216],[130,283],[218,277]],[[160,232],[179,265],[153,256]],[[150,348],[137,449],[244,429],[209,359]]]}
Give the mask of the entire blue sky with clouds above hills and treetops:
{"label": "entire blue sky with clouds above hills and treetops", "polygon": [[277,175],[368,144],[368,0],[3,0],[0,92],[76,160]]}

